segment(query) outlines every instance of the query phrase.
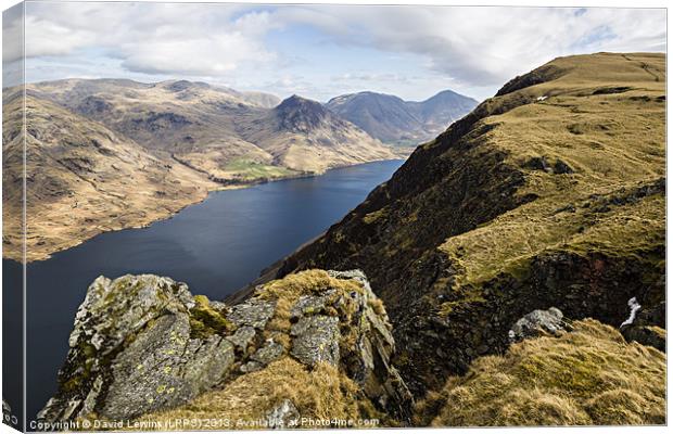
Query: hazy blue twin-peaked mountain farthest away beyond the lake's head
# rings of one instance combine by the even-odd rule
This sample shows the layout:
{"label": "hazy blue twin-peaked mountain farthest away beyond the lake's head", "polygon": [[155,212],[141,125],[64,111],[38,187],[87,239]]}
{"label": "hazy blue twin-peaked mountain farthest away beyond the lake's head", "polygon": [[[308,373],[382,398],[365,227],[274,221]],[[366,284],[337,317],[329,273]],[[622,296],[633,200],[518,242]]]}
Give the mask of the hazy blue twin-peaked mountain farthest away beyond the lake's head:
{"label": "hazy blue twin-peaked mountain farthest away beyond the lake's head", "polygon": [[376,92],[351,93],[331,99],[327,107],[383,142],[418,144],[434,138],[477,104],[445,90],[423,102]]}

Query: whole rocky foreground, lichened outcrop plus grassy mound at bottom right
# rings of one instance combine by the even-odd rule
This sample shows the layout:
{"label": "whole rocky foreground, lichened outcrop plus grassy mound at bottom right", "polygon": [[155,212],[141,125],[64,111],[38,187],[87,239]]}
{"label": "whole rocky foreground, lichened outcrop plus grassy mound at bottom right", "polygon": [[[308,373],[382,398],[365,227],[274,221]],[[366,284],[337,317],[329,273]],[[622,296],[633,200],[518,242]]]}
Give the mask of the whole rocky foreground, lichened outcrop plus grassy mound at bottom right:
{"label": "whole rocky foreground, lichened outcrop plus grassy mound at bottom right", "polygon": [[360,271],[292,275],[234,306],[168,278],[100,277],[38,419],[156,430],[664,423],[660,350],[556,308],[524,316],[509,336],[505,355],[415,399]]}

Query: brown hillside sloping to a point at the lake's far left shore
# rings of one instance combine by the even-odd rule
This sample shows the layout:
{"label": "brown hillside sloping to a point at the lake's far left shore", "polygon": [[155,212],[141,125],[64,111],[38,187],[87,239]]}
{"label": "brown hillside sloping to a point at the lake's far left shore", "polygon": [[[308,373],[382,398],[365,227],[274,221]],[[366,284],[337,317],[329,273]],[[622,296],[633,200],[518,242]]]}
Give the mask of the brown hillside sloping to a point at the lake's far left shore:
{"label": "brown hillside sloping to a point at the lake's far left shore", "polygon": [[[4,257],[22,257],[21,93],[3,116]],[[100,232],[170,216],[217,188],[205,176],[157,158],[103,125],[34,97],[26,99],[26,248],[28,260]]]}

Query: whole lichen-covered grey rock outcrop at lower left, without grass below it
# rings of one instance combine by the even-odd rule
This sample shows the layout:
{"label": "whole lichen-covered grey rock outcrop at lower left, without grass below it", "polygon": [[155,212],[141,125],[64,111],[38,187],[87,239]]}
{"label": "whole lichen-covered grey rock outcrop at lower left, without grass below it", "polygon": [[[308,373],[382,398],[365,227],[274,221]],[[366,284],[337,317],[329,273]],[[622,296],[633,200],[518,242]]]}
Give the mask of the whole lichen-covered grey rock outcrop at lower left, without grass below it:
{"label": "whole lichen-covered grey rock outcrop at lower left, without grass below it", "polygon": [[[328,365],[363,403],[408,419],[410,394],[390,361],[390,328],[360,271],[302,272],[236,306],[193,296],[168,278],[100,277],[77,311],[59,392],[38,419],[136,419],[283,359],[307,372]],[[275,425],[303,411],[284,400],[266,407],[256,416]]]}

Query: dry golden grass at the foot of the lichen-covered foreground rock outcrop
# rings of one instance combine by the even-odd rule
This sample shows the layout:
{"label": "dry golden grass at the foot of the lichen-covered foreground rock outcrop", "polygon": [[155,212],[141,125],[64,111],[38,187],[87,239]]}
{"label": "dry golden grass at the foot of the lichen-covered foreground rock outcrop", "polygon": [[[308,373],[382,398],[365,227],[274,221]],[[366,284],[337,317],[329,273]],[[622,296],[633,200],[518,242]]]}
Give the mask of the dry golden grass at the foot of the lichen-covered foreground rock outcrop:
{"label": "dry golden grass at the foot of the lichen-covered foreground rock outcrop", "polygon": [[[203,394],[190,404],[143,420],[167,422],[175,419],[228,419],[238,429],[247,421],[264,419],[284,399],[296,406],[302,418],[352,419],[374,416],[373,407],[357,385],[336,368],[319,363],[309,370],[299,361],[284,357],[265,369],[239,376],[220,391]],[[243,424],[237,425],[238,421]]]}

